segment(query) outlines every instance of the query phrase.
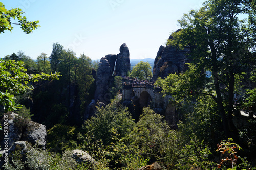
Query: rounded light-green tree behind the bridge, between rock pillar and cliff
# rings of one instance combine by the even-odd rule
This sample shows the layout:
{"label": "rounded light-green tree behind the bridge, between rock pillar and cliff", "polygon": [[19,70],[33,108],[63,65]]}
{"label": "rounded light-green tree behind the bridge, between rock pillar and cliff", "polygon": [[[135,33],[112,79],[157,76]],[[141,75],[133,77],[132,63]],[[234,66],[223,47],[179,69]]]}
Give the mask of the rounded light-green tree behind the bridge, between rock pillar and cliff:
{"label": "rounded light-green tree behind the bridge, between rock pillar and cliff", "polygon": [[152,76],[150,63],[143,61],[136,64],[131,72],[131,77],[137,77],[141,80],[150,80]]}

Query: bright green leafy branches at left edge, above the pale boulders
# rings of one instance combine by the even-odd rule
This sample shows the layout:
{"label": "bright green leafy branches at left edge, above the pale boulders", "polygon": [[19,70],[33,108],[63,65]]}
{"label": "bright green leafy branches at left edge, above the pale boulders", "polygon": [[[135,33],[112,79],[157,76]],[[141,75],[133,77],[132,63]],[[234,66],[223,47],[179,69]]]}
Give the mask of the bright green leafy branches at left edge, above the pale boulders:
{"label": "bright green leafy branches at left edge, above the pale boulders", "polygon": [[22,61],[0,59],[0,105],[4,111],[16,110],[20,105],[16,103],[15,96],[25,93],[28,89],[33,89],[30,82],[38,79],[58,79],[59,74],[27,74]]}

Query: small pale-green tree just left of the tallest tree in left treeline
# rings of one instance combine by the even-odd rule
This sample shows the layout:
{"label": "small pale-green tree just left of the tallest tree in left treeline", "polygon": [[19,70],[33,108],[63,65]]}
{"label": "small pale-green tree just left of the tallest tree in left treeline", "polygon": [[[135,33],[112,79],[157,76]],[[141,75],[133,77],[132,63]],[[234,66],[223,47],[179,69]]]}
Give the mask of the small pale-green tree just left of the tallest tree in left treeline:
{"label": "small pale-green tree just left of the tallest tree in left treeline", "polygon": [[37,56],[36,63],[38,72],[51,72],[51,64],[49,62],[49,57],[47,57],[46,53],[41,53],[40,56]]}

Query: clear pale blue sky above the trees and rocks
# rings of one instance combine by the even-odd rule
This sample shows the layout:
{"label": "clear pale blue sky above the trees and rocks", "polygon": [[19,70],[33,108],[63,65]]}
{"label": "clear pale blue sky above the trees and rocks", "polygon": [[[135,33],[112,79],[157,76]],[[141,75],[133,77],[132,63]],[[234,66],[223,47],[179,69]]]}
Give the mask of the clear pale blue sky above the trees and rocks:
{"label": "clear pale blue sky above the trees and rocks", "polygon": [[[58,42],[72,49],[77,57],[84,53],[93,60],[118,54],[126,43],[130,59],[155,58],[177,20],[201,0],[0,0],[7,9],[21,8],[29,21],[39,20],[38,29],[25,34],[14,26],[12,33],[0,34],[0,58],[19,50],[36,59],[51,55]],[[15,21],[14,21],[15,22]]]}

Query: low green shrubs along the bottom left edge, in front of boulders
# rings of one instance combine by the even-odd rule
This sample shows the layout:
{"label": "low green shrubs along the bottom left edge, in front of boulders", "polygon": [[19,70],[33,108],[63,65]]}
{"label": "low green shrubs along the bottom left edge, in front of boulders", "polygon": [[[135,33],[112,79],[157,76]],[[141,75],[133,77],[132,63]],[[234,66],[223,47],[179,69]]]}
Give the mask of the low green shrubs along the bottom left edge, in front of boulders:
{"label": "low green shrubs along the bottom left edge, in front of boulders", "polygon": [[[15,151],[12,154],[12,159],[3,167],[3,169],[42,169],[42,170],[67,170],[67,169],[93,169],[94,167],[89,164],[79,164],[75,159],[71,158],[71,151],[65,151],[60,154],[51,153],[47,150],[41,150],[36,148],[31,148],[24,154],[20,151]],[[24,159],[26,160],[24,161]],[[108,169],[104,168],[104,164],[99,162],[95,168],[98,169]]]}

